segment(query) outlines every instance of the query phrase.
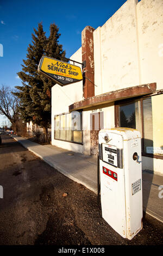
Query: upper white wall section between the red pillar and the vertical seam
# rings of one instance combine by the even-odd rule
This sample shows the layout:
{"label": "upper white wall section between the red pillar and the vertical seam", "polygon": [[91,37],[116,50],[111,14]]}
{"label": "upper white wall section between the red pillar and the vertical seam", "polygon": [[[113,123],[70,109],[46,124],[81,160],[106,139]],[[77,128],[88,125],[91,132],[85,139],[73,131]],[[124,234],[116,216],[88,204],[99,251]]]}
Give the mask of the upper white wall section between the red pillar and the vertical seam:
{"label": "upper white wall section between the red pillar and the vertical seam", "polygon": [[136,2],[128,0],[93,32],[96,95],[140,84]]}

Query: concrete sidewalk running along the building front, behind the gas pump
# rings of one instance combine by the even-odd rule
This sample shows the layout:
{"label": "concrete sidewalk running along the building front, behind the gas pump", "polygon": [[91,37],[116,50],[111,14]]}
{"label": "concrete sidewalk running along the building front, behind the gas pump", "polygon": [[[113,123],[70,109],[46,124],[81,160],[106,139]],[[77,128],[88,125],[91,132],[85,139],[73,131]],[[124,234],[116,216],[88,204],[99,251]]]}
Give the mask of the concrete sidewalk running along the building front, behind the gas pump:
{"label": "concrete sidewalk running along the building front, behind the gas pump", "polygon": [[[97,157],[84,156],[52,145],[40,145],[16,135],[11,136],[68,178],[97,193]],[[160,185],[163,186],[163,176],[148,170],[142,172],[143,210],[163,222],[163,193],[159,190]]]}

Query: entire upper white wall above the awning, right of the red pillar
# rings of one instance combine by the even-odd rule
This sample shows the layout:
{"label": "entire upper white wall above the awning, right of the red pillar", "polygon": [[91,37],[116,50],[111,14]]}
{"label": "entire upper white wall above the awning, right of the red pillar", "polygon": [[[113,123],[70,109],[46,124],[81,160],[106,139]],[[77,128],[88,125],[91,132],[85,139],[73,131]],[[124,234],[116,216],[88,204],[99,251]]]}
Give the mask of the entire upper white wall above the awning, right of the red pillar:
{"label": "entire upper white wall above the awning, right of the red pillar", "polygon": [[95,95],[163,77],[163,1],[128,0],[93,32]]}

